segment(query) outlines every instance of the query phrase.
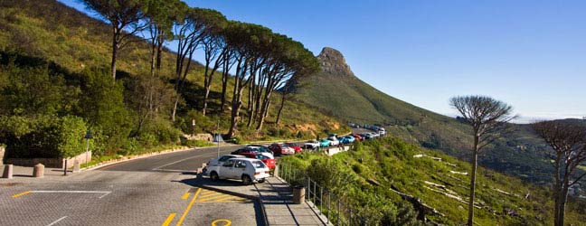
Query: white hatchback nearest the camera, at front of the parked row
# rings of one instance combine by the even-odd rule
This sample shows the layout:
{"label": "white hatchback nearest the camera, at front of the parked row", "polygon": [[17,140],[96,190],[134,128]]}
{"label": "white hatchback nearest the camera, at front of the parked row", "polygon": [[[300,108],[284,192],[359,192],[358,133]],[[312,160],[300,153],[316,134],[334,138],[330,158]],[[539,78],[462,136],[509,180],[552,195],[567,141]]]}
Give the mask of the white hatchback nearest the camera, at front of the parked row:
{"label": "white hatchback nearest the camera, at front of the parked row", "polygon": [[210,166],[208,172],[212,181],[237,179],[242,180],[244,185],[254,182],[264,183],[269,177],[269,167],[262,161],[241,157],[228,159],[222,165]]}

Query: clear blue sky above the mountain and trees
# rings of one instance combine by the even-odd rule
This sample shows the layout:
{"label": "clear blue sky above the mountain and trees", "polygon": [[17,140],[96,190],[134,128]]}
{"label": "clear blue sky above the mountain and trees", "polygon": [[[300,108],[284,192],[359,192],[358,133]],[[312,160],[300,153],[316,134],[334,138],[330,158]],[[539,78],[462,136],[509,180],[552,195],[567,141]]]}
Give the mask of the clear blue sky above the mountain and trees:
{"label": "clear blue sky above the mountain and trees", "polygon": [[441,114],[456,114],[450,97],[480,94],[524,118],[586,117],[586,1],[185,2],[316,54],[333,47],[361,80]]}

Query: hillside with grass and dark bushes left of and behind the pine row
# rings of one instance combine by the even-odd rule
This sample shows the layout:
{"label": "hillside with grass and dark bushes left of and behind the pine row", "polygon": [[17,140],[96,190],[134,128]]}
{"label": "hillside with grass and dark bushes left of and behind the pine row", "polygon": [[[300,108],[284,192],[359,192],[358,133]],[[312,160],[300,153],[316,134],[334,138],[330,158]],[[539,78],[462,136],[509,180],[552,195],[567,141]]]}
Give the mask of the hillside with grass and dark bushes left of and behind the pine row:
{"label": "hillside with grass and dark bushes left of and behind the pine row", "polygon": [[[55,0],[0,1],[0,117],[6,118],[4,122],[11,124],[16,122],[14,117],[24,117],[24,122],[33,123],[35,115],[79,117],[86,124],[81,130],[85,127],[96,130],[96,143],[107,143],[101,139],[109,139],[111,146],[97,147],[109,154],[128,154],[128,149],[142,149],[137,146],[175,145],[178,135],[211,133],[216,124],[220,125],[220,132],[227,132],[233,80],[228,81],[228,103],[222,111],[222,78],[220,75],[214,77],[208,114],[203,117],[203,67],[193,63],[185,89],[180,93],[182,99],[177,118],[171,121],[169,108],[172,101],[163,98],[175,95],[173,50],[165,49],[163,52],[161,78],[149,81],[149,45],[134,37],[135,42],[129,42],[119,53],[118,76],[116,84],[112,85],[103,76],[107,74],[110,63],[110,33],[108,24]],[[203,52],[194,54],[201,55]],[[23,74],[31,77],[24,78]],[[33,81],[39,84],[31,84]],[[142,108],[138,101],[142,98],[141,84],[145,82],[156,83],[156,89],[160,90],[157,95],[163,101],[156,116],[138,131],[141,112],[137,108]],[[36,90],[45,93],[33,93],[33,86],[43,87]],[[35,96],[37,94],[41,96]],[[52,97],[48,99],[52,101],[35,98],[43,96]],[[39,100],[43,106],[33,108],[27,105],[25,98]],[[242,100],[246,106],[248,91],[244,91]],[[297,137],[298,132],[304,137],[315,137],[317,134],[324,136],[332,131],[349,130],[336,118],[296,101],[286,102],[279,125],[276,125],[279,103],[280,95],[276,93],[271,98],[268,118],[261,131],[256,131],[254,125],[246,126],[244,118],[248,117],[249,112],[241,110],[242,119],[236,137],[239,140],[269,140]],[[112,118],[118,118],[118,121]],[[193,119],[195,127],[192,126]],[[110,130],[110,134],[98,130]],[[117,140],[113,140],[114,137],[118,137]]]}

